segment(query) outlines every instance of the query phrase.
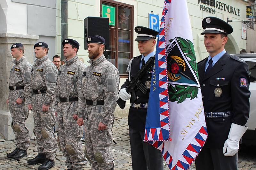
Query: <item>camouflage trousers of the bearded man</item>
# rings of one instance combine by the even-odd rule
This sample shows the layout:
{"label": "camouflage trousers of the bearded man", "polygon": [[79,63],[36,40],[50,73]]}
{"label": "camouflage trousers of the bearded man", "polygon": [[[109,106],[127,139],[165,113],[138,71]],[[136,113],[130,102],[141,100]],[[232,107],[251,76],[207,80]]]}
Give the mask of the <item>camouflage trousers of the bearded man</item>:
{"label": "camouflage trousers of the bearded man", "polygon": [[86,106],[84,117],[85,132],[85,157],[92,165],[92,170],[113,170],[115,168],[114,158],[110,145],[112,144],[112,122],[107,129],[98,130],[101,110],[104,105]]}

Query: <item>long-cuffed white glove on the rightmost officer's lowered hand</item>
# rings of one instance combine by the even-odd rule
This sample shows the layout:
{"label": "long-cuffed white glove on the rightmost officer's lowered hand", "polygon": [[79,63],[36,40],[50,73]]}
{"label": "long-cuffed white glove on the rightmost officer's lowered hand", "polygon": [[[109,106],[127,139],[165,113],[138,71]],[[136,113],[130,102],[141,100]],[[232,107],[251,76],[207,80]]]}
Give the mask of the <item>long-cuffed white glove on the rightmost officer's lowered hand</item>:
{"label": "long-cuffed white glove on the rightmost officer's lowered hand", "polygon": [[248,128],[245,126],[241,126],[233,123],[231,124],[231,128],[228,134],[228,139],[224,143],[224,147],[223,147],[224,156],[234,156],[236,152],[238,152],[239,141],[247,129]]}

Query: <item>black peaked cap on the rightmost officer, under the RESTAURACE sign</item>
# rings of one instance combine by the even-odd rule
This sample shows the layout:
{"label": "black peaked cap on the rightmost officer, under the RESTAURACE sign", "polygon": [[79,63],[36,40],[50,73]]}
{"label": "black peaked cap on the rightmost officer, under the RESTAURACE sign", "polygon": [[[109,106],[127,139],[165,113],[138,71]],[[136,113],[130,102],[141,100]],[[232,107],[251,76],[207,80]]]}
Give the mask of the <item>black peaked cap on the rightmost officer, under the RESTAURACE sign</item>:
{"label": "black peaked cap on the rightmost officer, under the RESTAURACE sign", "polygon": [[233,28],[227,22],[223,21],[222,19],[216,17],[206,17],[202,21],[202,27],[205,33],[224,33],[226,35],[231,34],[233,32]]}

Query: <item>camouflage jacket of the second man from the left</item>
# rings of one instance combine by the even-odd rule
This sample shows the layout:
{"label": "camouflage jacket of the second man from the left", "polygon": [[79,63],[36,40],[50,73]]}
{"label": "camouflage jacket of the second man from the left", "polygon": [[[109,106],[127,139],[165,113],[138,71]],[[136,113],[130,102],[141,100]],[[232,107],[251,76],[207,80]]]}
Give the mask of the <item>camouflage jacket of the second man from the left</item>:
{"label": "camouflage jacket of the second man from the left", "polygon": [[30,97],[33,95],[33,89],[47,89],[44,102],[53,103],[57,74],[57,67],[48,59],[48,55],[36,59],[31,69]]}

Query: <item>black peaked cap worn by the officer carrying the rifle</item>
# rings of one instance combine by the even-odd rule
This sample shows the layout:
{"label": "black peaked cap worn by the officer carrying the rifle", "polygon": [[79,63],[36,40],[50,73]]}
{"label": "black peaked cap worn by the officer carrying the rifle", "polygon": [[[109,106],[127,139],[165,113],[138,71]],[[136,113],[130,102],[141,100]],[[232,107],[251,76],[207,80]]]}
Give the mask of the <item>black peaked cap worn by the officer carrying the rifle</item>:
{"label": "black peaked cap worn by the officer carrying the rifle", "polygon": [[135,41],[145,41],[151,38],[156,39],[156,36],[158,35],[158,31],[152,30],[144,26],[136,26],[134,30],[138,33]]}

